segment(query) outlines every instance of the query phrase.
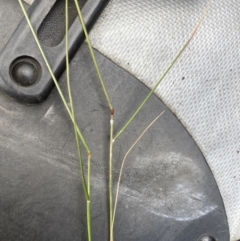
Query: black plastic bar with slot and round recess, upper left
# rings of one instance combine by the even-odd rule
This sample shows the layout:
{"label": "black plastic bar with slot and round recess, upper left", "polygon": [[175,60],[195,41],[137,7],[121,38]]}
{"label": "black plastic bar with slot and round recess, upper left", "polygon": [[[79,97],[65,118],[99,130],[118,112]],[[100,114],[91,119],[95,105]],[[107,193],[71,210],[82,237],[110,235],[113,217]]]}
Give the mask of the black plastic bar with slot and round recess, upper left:
{"label": "black plastic bar with slot and round recess, upper left", "polygon": [[[107,0],[79,0],[90,29]],[[73,1],[69,5],[69,53],[72,57],[84,41]],[[57,78],[65,70],[64,0],[34,1],[28,14]],[[52,29],[52,35],[51,30]],[[47,98],[53,81],[23,19],[0,54],[0,88],[23,102],[36,103]]]}

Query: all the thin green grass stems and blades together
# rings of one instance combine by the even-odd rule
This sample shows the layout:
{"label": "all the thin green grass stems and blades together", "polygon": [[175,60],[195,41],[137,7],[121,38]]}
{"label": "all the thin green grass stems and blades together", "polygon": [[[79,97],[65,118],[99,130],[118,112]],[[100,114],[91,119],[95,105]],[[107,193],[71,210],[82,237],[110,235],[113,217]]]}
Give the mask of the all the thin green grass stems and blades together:
{"label": "all the thin green grass stems and blades together", "polygon": [[[58,81],[53,73],[53,70],[48,62],[48,59],[44,53],[44,50],[41,46],[41,43],[38,39],[38,36],[36,34],[36,31],[34,30],[31,21],[28,17],[28,14],[23,6],[23,2],[22,0],[18,0],[19,4],[23,10],[24,16],[26,18],[26,21],[28,22],[28,25],[31,29],[31,32],[33,34],[33,37],[37,43],[37,46],[42,54],[42,57],[46,63],[46,66],[51,74],[51,77],[54,81],[54,84],[57,88],[57,91],[61,97],[61,100],[63,102],[63,105],[65,106],[65,109],[73,123],[73,129],[74,129],[74,134],[75,134],[75,139],[76,139],[76,146],[77,146],[77,152],[78,152],[78,158],[79,158],[79,165],[80,165],[80,174],[81,174],[81,179],[82,179],[82,185],[83,185],[83,190],[84,190],[84,195],[85,195],[85,199],[86,199],[86,205],[87,205],[87,229],[88,229],[88,241],[92,240],[92,218],[91,218],[91,149],[85,139],[85,137],[83,136],[81,129],[79,128],[79,125],[76,121],[75,118],[75,111],[74,111],[74,103],[73,103],[73,98],[72,98],[72,93],[71,93],[71,81],[70,81],[70,65],[69,65],[69,54],[68,54],[68,29],[69,29],[69,23],[68,23],[68,0],[65,0],[65,21],[66,21],[66,35],[65,35],[65,48],[66,48],[66,79],[67,79],[67,87],[68,87],[68,101],[67,98],[64,96]],[[82,25],[83,31],[85,33],[86,36],[86,42],[88,44],[89,47],[89,51],[90,51],[90,55],[92,57],[93,60],[93,64],[95,66],[96,69],[96,73],[98,76],[98,79],[101,83],[102,86],[102,91],[104,92],[105,98],[106,98],[106,102],[108,103],[109,106],[109,121],[110,121],[110,127],[109,127],[109,133],[110,133],[110,138],[109,138],[109,240],[110,241],[114,241],[114,220],[116,217],[116,208],[117,208],[117,200],[118,200],[118,195],[119,195],[119,188],[120,188],[120,181],[121,181],[121,176],[122,176],[122,172],[123,172],[123,167],[124,167],[124,163],[126,161],[126,158],[128,156],[128,154],[130,153],[130,151],[133,149],[133,147],[140,141],[140,139],[142,138],[142,136],[146,133],[146,131],[156,122],[156,120],[163,114],[161,113],[160,115],[158,115],[147,127],[146,129],[143,131],[143,133],[136,139],[136,141],[134,142],[134,144],[129,148],[129,150],[127,151],[126,155],[124,156],[124,159],[122,161],[122,165],[121,165],[121,169],[120,169],[120,174],[119,174],[119,179],[118,179],[118,183],[117,183],[117,189],[116,189],[116,196],[115,199],[113,199],[113,193],[114,193],[114,184],[113,184],[113,153],[114,153],[114,143],[117,141],[117,139],[124,133],[124,131],[128,128],[128,126],[134,121],[134,119],[136,118],[136,116],[140,113],[140,111],[142,110],[142,108],[145,106],[145,104],[147,103],[147,101],[150,99],[150,97],[154,94],[155,90],[159,87],[160,83],[162,82],[162,80],[166,77],[166,75],[169,73],[169,71],[172,69],[172,67],[174,66],[174,64],[177,62],[177,60],[181,57],[182,53],[184,52],[184,50],[188,47],[188,45],[190,44],[190,42],[192,41],[193,37],[195,36],[197,30],[199,29],[205,15],[207,14],[207,11],[211,5],[212,0],[209,0],[202,15],[201,18],[199,20],[199,22],[197,23],[196,27],[194,28],[191,36],[189,37],[189,39],[186,41],[185,45],[182,47],[182,49],[177,53],[176,57],[173,59],[173,61],[169,64],[169,67],[166,69],[166,71],[164,72],[164,74],[161,76],[161,78],[159,78],[159,80],[157,81],[157,83],[155,84],[155,86],[152,88],[152,90],[149,92],[149,94],[146,96],[146,98],[142,101],[142,103],[140,103],[139,107],[137,108],[137,110],[134,112],[134,114],[126,121],[126,124],[120,129],[120,131],[116,134],[114,134],[114,107],[112,105],[111,102],[111,98],[108,94],[105,82],[103,80],[103,77],[101,75],[98,63],[97,63],[97,59],[95,57],[94,54],[94,50],[88,35],[88,30],[86,28],[86,25],[84,23],[84,18],[81,12],[81,8],[79,6],[79,3],[77,0],[75,1],[75,5],[76,5],[76,9],[78,12],[78,17],[79,17],[79,21]],[[87,160],[86,160],[86,165],[87,165],[87,177],[86,174],[84,172],[84,162],[83,162],[83,156],[82,156],[82,148],[81,146],[84,147],[84,150],[87,153]]]}

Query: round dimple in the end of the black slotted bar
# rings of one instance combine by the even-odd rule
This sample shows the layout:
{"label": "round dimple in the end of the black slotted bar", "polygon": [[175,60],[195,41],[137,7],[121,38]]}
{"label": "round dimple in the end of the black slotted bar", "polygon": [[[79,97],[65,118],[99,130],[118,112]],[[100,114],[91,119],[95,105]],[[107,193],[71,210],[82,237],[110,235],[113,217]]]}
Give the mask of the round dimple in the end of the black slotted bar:
{"label": "round dimple in the end of the black slotted bar", "polygon": [[41,78],[41,74],[40,64],[32,57],[22,56],[16,58],[10,65],[11,79],[24,87],[35,84]]}

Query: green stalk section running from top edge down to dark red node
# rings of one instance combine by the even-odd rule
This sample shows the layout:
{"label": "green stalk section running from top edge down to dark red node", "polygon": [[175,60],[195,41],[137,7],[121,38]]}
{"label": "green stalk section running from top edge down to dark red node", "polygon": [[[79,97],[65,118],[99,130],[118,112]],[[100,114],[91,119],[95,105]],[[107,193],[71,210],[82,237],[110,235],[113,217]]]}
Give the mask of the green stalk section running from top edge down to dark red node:
{"label": "green stalk section running from top edge down to dark red node", "polygon": [[108,102],[109,109],[113,110],[113,106],[112,106],[112,103],[111,103],[111,100],[110,100],[110,97],[109,97],[109,94],[108,94],[105,82],[104,82],[104,80],[102,78],[102,75],[101,75],[101,72],[100,72],[100,69],[99,69],[99,66],[98,66],[95,54],[93,52],[93,47],[92,47],[92,44],[91,44],[91,40],[90,40],[89,35],[88,35],[88,31],[87,31],[86,24],[85,24],[84,19],[83,19],[83,15],[82,15],[82,12],[81,12],[78,0],[74,0],[74,1],[75,1],[75,5],[76,5],[76,8],[77,8],[77,11],[78,11],[79,20],[81,22],[84,34],[86,36],[86,41],[87,41],[87,44],[88,44],[88,47],[89,47],[89,51],[90,51],[90,54],[91,54],[91,57],[92,57],[95,69],[97,71],[98,78],[100,80],[103,92],[104,92],[106,100]]}

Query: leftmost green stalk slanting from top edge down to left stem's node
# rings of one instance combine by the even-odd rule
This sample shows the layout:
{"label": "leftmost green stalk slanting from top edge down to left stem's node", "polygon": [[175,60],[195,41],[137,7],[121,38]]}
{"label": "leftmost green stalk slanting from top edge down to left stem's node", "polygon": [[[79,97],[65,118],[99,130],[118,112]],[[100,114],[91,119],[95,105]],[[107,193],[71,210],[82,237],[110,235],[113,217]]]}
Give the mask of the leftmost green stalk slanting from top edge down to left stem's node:
{"label": "leftmost green stalk slanting from top edge down to left stem's node", "polygon": [[[34,30],[34,28],[33,28],[33,26],[32,26],[32,23],[31,23],[31,21],[30,21],[30,19],[29,19],[29,17],[28,17],[27,11],[26,11],[25,7],[23,6],[23,2],[22,2],[22,0],[18,0],[18,1],[19,1],[19,4],[20,4],[21,8],[22,8],[22,11],[23,11],[23,13],[24,13],[24,16],[25,16],[25,18],[26,18],[26,21],[27,21],[27,23],[28,23],[28,25],[29,25],[29,27],[30,27],[30,29],[31,29],[31,32],[32,32],[33,37],[34,37],[34,39],[35,39],[35,42],[36,42],[36,44],[37,44],[37,46],[38,46],[38,48],[39,48],[39,50],[40,50],[40,52],[41,52],[41,55],[42,55],[42,57],[43,57],[43,59],[44,59],[44,62],[45,62],[46,66],[47,66],[47,68],[48,68],[48,70],[49,70],[49,73],[51,74],[51,77],[52,77],[52,79],[53,79],[53,82],[54,82],[54,84],[55,84],[55,86],[56,86],[56,88],[57,88],[57,90],[58,90],[58,93],[59,93],[61,99],[62,99],[62,102],[63,102],[63,104],[64,104],[64,106],[65,106],[65,108],[66,108],[66,110],[67,110],[67,112],[68,112],[68,115],[69,115],[70,118],[71,118],[71,121],[74,123],[74,119],[73,119],[73,116],[72,116],[72,112],[71,112],[71,110],[69,109],[69,106],[68,106],[68,104],[67,104],[67,101],[66,101],[66,99],[65,99],[65,97],[64,97],[64,95],[63,95],[63,93],[62,93],[62,91],[61,91],[61,88],[60,88],[60,86],[59,86],[59,84],[58,84],[58,82],[57,82],[57,79],[56,79],[56,77],[55,77],[55,75],[54,75],[54,73],[53,73],[53,71],[52,71],[52,68],[51,68],[51,66],[50,66],[50,64],[49,64],[49,61],[48,61],[48,59],[47,59],[47,57],[46,57],[46,55],[45,55],[45,53],[44,53],[44,51],[43,51],[43,48],[42,48],[42,46],[41,46],[41,44],[40,44],[40,41],[39,41],[39,39],[38,39],[38,37],[37,37],[37,34],[36,34],[36,32],[35,32],[35,30]],[[91,152],[91,151],[90,151],[90,148],[89,148],[89,146],[88,146],[88,144],[87,144],[87,142],[86,142],[86,140],[85,140],[85,138],[84,138],[84,136],[82,135],[82,132],[80,131],[80,128],[78,127],[78,125],[76,125],[76,129],[77,129],[77,134],[79,135],[79,137],[80,137],[80,139],[81,139],[81,141],[82,141],[82,143],[83,143],[86,151],[87,151],[88,153]]]}

